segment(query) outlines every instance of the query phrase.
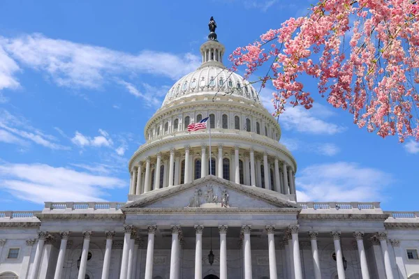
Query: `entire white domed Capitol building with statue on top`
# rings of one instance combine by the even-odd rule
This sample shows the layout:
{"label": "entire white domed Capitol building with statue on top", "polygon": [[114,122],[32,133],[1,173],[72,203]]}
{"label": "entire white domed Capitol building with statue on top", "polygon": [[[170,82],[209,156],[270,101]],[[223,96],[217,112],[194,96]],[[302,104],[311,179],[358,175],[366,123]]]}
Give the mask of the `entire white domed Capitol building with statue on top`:
{"label": "entire white domed Capitol building with statue on top", "polygon": [[[128,202],[0,211],[0,278],[419,278],[419,212],[297,202],[280,126],[209,26],[145,126]],[[206,117],[211,141],[186,128]]]}

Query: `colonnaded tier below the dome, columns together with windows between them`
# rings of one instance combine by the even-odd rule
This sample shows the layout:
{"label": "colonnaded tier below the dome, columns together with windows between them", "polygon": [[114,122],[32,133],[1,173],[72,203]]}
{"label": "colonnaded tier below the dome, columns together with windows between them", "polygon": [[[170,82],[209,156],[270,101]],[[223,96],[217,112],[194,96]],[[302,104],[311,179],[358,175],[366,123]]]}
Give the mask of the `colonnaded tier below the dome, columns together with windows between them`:
{"label": "colonnaded tier below the dome, columns together with windows between them", "polygon": [[[199,165],[196,165],[196,160]],[[224,160],[228,159],[228,165]],[[248,186],[263,187],[284,195],[295,194],[295,170],[277,156],[240,146],[212,146],[212,174]],[[147,157],[131,171],[130,195],[188,183],[209,174],[209,148],[184,146],[184,149],[159,152]],[[200,167],[200,170],[196,169]],[[228,177],[225,177],[228,176]]]}

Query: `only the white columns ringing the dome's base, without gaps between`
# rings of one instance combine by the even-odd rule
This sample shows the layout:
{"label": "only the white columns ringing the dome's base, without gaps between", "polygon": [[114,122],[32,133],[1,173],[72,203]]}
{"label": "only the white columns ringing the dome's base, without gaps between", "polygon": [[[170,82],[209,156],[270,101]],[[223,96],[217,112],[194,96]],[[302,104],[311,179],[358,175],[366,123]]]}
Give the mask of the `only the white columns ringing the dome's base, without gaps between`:
{"label": "only the white columns ringing the dome's base, without gaps between", "polygon": [[[140,195],[141,193],[147,193],[152,188],[157,189],[160,186],[160,180],[163,179],[160,177],[160,168],[161,168],[161,153],[157,153],[156,156],[156,167],[154,169],[154,185],[151,185],[151,158],[145,158],[145,178],[142,179],[142,162],[139,163],[138,167],[134,167],[131,172],[131,185],[130,185],[130,195]],[[257,186],[261,184],[261,173],[258,172],[256,176],[256,169],[260,170],[260,165],[263,163],[263,177],[265,188],[269,190],[276,190],[279,193],[284,195],[295,194],[295,176],[294,171],[291,166],[288,166],[285,162],[279,163],[278,158],[274,158],[274,173],[270,174],[270,163],[268,163],[267,153],[263,153],[263,162],[256,159],[255,160],[255,151],[250,149],[249,156],[244,158],[244,183],[251,186]],[[190,146],[184,146],[184,158],[185,158],[185,167],[184,167],[184,183],[191,182],[191,173],[190,171]],[[240,183],[240,147],[234,147],[234,160],[233,160],[233,181],[235,183]],[[169,158],[169,173],[168,173],[168,187],[174,186],[176,177],[174,173],[179,172],[179,163],[178,158],[176,162],[177,170],[175,170],[175,149],[170,149],[170,158]],[[203,144],[201,146],[201,177],[208,175],[208,166],[207,166],[207,146]],[[282,169],[280,170],[280,167]],[[223,179],[223,145],[219,144],[218,146],[218,162],[216,164],[217,175]],[[281,176],[281,174],[282,176]],[[271,185],[270,175],[274,176],[274,185]],[[256,181],[258,179],[258,181]],[[164,186],[166,186],[164,185]],[[261,186],[261,185],[258,185]]]}

